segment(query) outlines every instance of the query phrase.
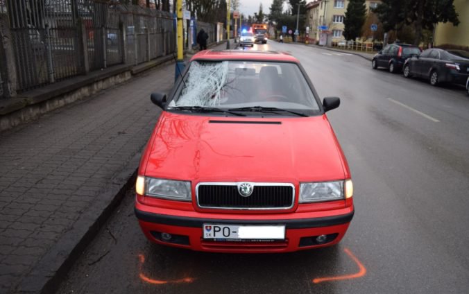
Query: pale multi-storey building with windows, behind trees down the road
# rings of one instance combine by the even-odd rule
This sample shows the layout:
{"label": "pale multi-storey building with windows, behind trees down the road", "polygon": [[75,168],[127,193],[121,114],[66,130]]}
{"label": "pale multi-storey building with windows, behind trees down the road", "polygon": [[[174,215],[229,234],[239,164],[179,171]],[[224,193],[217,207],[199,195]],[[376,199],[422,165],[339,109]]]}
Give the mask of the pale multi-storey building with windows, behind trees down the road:
{"label": "pale multi-storey building with windows, behind trees down the road", "polygon": [[[349,0],[314,0],[307,3],[306,23],[310,28],[311,42],[321,40],[321,34],[323,37],[327,34],[327,40],[332,43],[345,41],[343,17],[346,14],[348,2]],[[368,10],[370,7],[375,8],[380,2],[380,0],[366,0],[366,8]]]}

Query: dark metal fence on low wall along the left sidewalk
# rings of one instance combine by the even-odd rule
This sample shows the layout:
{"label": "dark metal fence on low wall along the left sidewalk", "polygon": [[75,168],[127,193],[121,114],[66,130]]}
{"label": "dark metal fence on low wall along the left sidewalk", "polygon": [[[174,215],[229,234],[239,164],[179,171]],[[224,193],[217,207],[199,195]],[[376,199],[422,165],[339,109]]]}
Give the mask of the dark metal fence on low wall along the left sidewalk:
{"label": "dark metal fence on low wall along the left sidewalk", "polygon": [[10,21],[18,92],[176,51],[169,12],[104,0],[0,0],[1,10]]}

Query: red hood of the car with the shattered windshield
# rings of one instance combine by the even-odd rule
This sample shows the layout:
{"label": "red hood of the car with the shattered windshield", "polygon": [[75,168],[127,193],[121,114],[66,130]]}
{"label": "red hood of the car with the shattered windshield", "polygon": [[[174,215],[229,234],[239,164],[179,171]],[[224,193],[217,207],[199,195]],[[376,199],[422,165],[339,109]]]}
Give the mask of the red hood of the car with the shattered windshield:
{"label": "red hood of the car with the shattered windshield", "polygon": [[262,119],[163,112],[144,156],[146,176],[195,182],[350,176],[325,115]]}

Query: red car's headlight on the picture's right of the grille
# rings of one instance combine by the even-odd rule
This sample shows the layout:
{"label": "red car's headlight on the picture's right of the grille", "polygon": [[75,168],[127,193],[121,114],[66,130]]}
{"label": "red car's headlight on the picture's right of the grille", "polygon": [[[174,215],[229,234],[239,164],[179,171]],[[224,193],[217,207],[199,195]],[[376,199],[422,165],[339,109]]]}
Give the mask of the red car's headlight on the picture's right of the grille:
{"label": "red car's headlight on the picture's right of the grille", "polygon": [[300,203],[342,200],[353,195],[352,180],[300,184]]}

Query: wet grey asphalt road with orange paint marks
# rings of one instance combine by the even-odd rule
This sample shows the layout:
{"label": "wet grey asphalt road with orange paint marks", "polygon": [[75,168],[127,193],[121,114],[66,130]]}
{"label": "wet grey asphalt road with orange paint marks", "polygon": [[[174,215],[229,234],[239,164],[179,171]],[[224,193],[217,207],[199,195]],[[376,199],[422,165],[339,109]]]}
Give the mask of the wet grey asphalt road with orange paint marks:
{"label": "wet grey asphalt road with orange paint marks", "polygon": [[[469,98],[459,87],[371,69],[355,55],[269,42],[300,59],[355,186],[355,218],[334,248],[209,254],[144,239],[129,191],[58,293],[467,293]],[[335,277],[335,279],[321,279]]]}

